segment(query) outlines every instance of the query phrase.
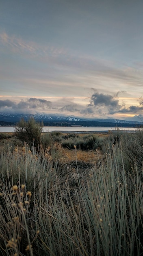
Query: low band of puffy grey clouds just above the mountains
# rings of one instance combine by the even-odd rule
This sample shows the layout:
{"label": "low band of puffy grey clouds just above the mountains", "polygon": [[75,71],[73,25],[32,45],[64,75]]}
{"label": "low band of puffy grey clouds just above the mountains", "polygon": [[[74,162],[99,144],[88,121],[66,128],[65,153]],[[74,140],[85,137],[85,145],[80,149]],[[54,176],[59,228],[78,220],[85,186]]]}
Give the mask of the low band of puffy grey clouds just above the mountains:
{"label": "low band of puffy grey clouds just above the mountains", "polygon": [[[89,98],[89,104],[79,104],[74,102],[74,98],[62,98],[53,101],[31,97],[30,99],[22,99],[19,102],[9,99],[0,100],[0,112],[10,113],[40,113],[75,115],[76,117],[109,117],[116,114],[123,114],[123,117],[130,113],[143,115],[143,99],[139,99],[139,106],[131,105],[126,107],[125,104],[119,104],[117,96],[111,94],[99,93],[93,90],[93,94]],[[121,92],[123,93],[123,92]]]}

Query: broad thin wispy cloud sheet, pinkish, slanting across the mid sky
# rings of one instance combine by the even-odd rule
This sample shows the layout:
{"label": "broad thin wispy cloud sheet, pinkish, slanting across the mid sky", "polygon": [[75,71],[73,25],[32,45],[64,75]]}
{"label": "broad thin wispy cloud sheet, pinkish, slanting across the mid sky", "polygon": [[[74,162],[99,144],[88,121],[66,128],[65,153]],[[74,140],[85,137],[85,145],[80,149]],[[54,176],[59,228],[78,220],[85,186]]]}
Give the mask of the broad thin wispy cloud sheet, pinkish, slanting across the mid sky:
{"label": "broad thin wispy cloud sheet, pinkish, slanting across the mid sky", "polygon": [[[5,32],[0,34],[0,42],[5,52],[18,54],[18,58],[14,56],[13,60],[5,60],[0,74],[3,81],[17,81],[17,92],[21,90],[21,86],[37,92],[40,86],[41,91],[44,91],[47,85],[51,94],[67,91],[65,96],[68,96],[68,92],[72,92],[74,96],[75,88],[76,94],[80,95],[81,88],[86,93],[91,87],[100,87],[102,93],[113,92],[115,88],[124,92],[126,87],[133,95],[136,86],[136,93],[139,95],[142,92],[143,76],[138,71],[138,64],[134,64],[134,68],[117,67],[115,63],[105,59],[24,40]],[[26,58],[26,65],[23,65],[23,59],[20,58],[24,58],[24,61]]]}

